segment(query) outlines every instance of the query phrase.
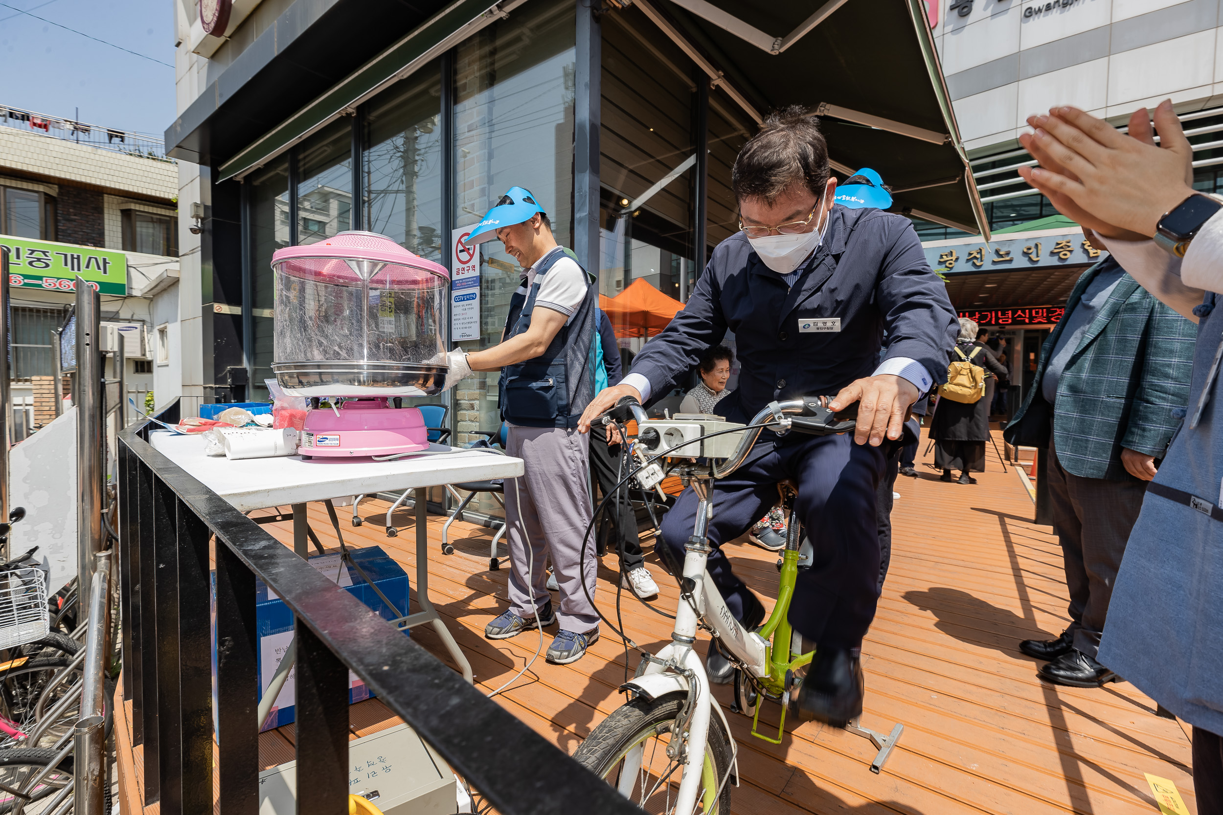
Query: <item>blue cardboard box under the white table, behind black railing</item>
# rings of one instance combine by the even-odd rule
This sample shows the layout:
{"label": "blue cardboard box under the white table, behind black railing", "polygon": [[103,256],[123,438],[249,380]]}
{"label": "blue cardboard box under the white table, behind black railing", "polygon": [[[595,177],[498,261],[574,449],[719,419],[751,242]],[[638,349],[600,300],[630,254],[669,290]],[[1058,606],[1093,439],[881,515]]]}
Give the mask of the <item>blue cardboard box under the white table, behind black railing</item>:
{"label": "blue cardboard box under the white table, behind black railing", "polygon": [[[407,613],[408,580],[399,563],[393,561],[380,546],[367,549],[350,549],[352,560],[361,565],[366,574],[373,580],[378,589],[386,595],[386,599],[395,606],[389,609],[378,593],[366,583],[361,574],[347,563],[341,563],[340,555],[314,555],[309,558],[311,566],[325,577],[336,582],[336,590],[345,590],[363,604],[378,612],[383,618],[390,621],[400,615]],[[215,574],[213,576],[215,583]],[[268,589],[263,580],[256,580],[256,629],[259,638],[258,672],[259,672],[259,698],[263,698],[264,689],[272,682],[272,677],[280,665],[289,644],[294,639],[294,615],[276,594]],[[215,598],[215,594],[214,594]],[[396,611],[399,613],[396,613]],[[411,637],[410,629],[404,629],[405,637]],[[289,725],[294,721],[294,696],[295,673],[290,671],[280,694],[276,696],[276,706],[272,709],[263,729],[272,729]],[[368,699],[373,693],[366,687],[357,674],[349,672],[349,704]],[[213,613],[213,700],[214,710],[216,701],[216,615]]]}

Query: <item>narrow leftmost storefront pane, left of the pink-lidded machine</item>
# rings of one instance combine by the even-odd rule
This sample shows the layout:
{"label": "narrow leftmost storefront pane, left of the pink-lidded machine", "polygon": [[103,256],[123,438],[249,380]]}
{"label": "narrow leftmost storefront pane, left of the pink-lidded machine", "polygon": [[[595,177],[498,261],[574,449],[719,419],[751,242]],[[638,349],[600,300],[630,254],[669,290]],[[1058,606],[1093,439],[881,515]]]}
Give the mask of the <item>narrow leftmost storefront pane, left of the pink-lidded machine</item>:
{"label": "narrow leftmost storefront pane, left of the pink-lidded machine", "polygon": [[268,398],[263,380],[272,378],[272,253],[289,246],[289,159],[281,156],[247,177],[251,185],[248,225],[251,276],[254,285],[254,376],[252,401]]}

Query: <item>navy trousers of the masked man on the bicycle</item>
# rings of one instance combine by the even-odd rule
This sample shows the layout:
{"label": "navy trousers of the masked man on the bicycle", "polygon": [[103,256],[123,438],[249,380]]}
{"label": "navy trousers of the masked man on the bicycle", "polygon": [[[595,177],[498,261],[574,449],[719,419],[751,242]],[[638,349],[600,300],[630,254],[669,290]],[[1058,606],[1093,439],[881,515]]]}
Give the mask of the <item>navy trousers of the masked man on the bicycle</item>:
{"label": "navy trousers of the masked man on the bicycle", "polygon": [[[744,464],[714,483],[708,532],[714,551],[707,568],[736,618],[742,619],[748,589],[731,569],[722,544],[759,521],[777,502],[777,484],[791,480],[799,486],[795,508],[815,547],[815,561],[799,574],[790,624],[822,645],[862,645],[879,599],[876,491],[883,479],[884,452],[854,444],[849,434],[777,439],[766,431]],[[663,543],[681,562],[696,508],[690,488],[663,518]]]}

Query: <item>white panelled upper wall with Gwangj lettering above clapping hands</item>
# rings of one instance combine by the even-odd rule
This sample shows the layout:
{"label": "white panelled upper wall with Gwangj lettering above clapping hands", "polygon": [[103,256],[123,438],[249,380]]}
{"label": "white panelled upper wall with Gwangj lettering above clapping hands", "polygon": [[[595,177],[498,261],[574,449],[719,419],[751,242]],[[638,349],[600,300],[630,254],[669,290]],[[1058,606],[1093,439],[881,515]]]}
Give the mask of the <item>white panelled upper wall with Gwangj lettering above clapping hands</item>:
{"label": "white panelled upper wall with Gwangj lettering above clapping hands", "polygon": [[974,0],[939,4],[934,38],[971,152],[1016,143],[1052,105],[1124,119],[1172,98],[1223,103],[1219,0]]}

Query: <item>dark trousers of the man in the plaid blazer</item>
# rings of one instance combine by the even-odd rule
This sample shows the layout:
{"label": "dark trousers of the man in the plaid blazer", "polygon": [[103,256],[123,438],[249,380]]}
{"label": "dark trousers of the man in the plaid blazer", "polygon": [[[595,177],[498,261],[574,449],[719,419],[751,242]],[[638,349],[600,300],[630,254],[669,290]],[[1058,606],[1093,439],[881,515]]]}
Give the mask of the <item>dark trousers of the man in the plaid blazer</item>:
{"label": "dark trousers of the man in the plaid blazer", "polygon": [[1068,473],[1049,441],[1046,468],[1053,532],[1062,544],[1075,650],[1096,659],[1125,541],[1142,510],[1146,481],[1109,481]]}

